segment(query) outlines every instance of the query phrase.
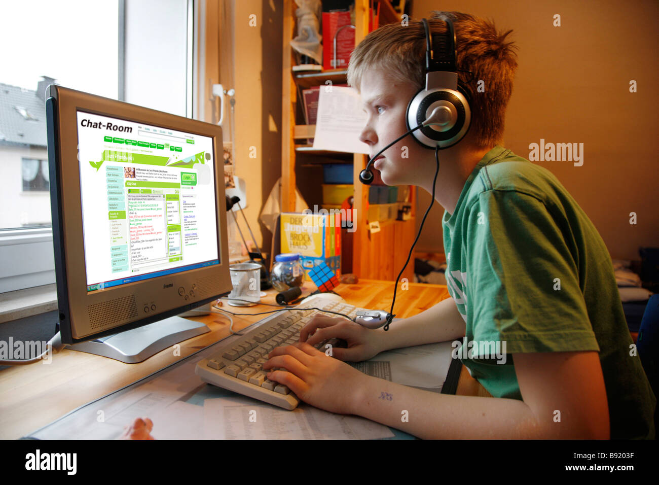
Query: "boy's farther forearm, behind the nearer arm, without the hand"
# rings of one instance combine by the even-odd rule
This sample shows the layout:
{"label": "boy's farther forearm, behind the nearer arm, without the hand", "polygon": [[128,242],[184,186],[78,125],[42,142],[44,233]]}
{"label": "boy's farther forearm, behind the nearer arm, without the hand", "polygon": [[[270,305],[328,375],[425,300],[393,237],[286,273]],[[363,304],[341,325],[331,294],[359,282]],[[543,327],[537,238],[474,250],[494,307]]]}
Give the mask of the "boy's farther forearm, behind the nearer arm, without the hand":
{"label": "boy's farther forearm, behind the nearer arm, without the hand", "polygon": [[457,311],[453,298],[447,298],[413,317],[391,323],[389,330],[381,337],[385,350],[388,350],[445,342],[464,336],[465,321]]}

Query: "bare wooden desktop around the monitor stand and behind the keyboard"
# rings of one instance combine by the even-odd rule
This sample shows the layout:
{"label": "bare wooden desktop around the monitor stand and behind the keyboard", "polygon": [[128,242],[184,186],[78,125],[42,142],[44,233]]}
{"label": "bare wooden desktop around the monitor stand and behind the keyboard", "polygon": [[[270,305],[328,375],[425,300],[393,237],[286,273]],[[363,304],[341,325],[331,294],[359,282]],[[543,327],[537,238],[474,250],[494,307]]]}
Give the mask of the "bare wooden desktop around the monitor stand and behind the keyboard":
{"label": "bare wooden desktop around the monitor stand and behind the keyboard", "polygon": [[[305,282],[302,294],[309,294],[315,288],[311,282]],[[335,292],[351,305],[388,310],[393,282],[360,280],[357,284],[341,284]],[[275,290],[267,290],[262,302],[275,304],[275,294]],[[409,290],[398,290],[395,311],[397,317],[411,317],[448,297],[444,285],[410,283]],[[226,302],[223,306],[235,313],[274,309],[267,306],[231,307]],[[267,316],[233,317],[233,329],[239,331]],[[219,313],[192,319],[208,325],[210,332],[181,342],[180,356],[173,356],[171,348],[167,348],[139,364],[124,364],[65,348],[53,356],[51,364],[39,362],[1,371],[0,439],[26,436],[82,404],[121,389],[229,335],[229,321]],[[463,367],[457,394],[487,395],[487,391]]]}

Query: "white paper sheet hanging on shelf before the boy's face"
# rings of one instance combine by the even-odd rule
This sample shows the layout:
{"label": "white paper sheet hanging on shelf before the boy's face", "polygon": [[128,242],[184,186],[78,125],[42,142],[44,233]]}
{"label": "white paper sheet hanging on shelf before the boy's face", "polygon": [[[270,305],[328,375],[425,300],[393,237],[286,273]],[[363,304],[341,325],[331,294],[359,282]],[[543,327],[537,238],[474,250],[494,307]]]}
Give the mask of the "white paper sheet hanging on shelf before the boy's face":
{"label": "white paper sheet hanging on shelf before the boy's face", "polygon": [[314,133],[316,150],[368,154],[368,145],[359,141],[364,125],[366,113],[355,88],[321,86]]}

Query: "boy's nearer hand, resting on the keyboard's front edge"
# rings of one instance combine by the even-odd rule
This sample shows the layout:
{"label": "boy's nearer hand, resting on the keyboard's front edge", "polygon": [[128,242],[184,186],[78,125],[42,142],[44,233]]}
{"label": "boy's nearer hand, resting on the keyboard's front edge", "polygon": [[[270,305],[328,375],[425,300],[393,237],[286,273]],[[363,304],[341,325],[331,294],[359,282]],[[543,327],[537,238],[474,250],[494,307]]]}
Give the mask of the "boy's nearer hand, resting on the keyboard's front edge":
{"label": "boy's nearer hand, resting on the keyboard's front edge", "polygon": [[268,357],[263,370],[282,369],[268,373],[268,379],[286,385],[305,403],[329,412],[351,414],[354,390],[368,377],[307,343],[277,347]]}

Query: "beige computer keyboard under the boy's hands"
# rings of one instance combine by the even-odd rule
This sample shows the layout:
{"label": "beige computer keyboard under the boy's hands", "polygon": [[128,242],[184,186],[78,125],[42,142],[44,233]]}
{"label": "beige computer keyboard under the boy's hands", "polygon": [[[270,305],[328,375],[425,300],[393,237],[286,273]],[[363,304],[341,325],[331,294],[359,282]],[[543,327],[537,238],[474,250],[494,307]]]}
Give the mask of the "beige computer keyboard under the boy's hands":
{"label": "beige computer keyboard under the boy's hands", "polygon": [[[322,313],[316,309],[301,310],[299,308],[317,307],[323,310],[336,311],[355,317],[357,308],[335,298],[322,294],[308,302],[303,302],[295,309],[273,313],[256,322],[255,329],[248,331],[238,340],[221,347],[217,354],[198,362],[195,373],[202,381],[229,389],[239,394],[253,397],[266,403],[274,404],[287,410],[293,410],[300,403],[298,397],[283,384],[271,381],[266,377],[268,370],[262,370],[268,360],[268,354],[277,346],[286,346],[299,340],[300,329],[314,315]],[[339,317],[326,313],[331,317]],[[319,342],[316,348],[324,348],[326,344],[340,346],[337,339]]]}

